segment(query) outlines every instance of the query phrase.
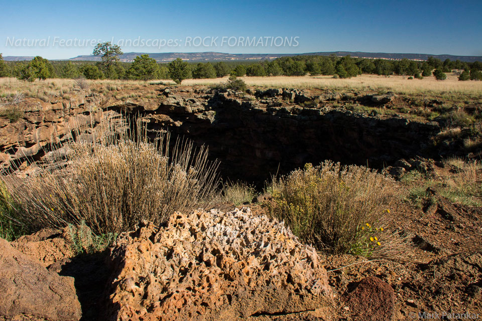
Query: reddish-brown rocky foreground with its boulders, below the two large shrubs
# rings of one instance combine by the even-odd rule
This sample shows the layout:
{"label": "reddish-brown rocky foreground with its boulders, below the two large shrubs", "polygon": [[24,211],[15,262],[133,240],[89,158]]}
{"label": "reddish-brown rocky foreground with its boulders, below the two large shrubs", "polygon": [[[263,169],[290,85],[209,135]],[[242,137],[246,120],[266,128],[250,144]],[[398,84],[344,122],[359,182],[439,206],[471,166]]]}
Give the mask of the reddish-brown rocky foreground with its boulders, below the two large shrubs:
{"label": "reddish-brown rocky foreground with its boulders, below the two large shrubs", "polygon": [[[9,249],[1,252],[0,288],[10,291],[0,295],[0,314],[29,318],[42,310],[45,319],[78,319],[81,306],[82,320],[204,315],[207,320],[334,321],[482,311],[481,208],[443,199],[426,212],[401,204],[392,211],[393,228],[410,235],[407,252],[376,260],[316,253],[276,221],[259,216],[263,206],[251,208],[179,214],[166,227],[141,225],[112,248],[91,254],[72,252],[67,229],[43,230],[11,246],[4,242]],[[22,272],[6,284],[17,273],[15,265],[6,265],[13,264],[8,263],[13,251]],[[37,264],[26,268],[27,260]],[[41,282],[38,273],[46,275]],[[65,281],[50,280],[59,277]],[[46,285],[52,282],[64,288]],[[6,296],[19,286],[30,293],[5,310]],[[35,305],[39,296],[42,309]]]}

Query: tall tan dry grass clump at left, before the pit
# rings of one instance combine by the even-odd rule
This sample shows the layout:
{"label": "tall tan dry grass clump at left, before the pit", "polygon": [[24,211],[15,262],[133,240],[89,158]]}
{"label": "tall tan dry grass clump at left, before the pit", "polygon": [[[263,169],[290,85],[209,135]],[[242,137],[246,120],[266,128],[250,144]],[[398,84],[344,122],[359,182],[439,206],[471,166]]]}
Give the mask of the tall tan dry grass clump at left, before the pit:
{"label": "tall tan dry grass clump at left, before the pit", "polygon": [[170,148],[169,134],[151,141],[139,121],[137,130],[100,126],[98,141],[65,143],[37,174],[2,178],[19,225],[38,230],[85,222],[96,234],[118,233],[144,219],[161,224],[214,193],[217,163],[207,160],[206,148],[179,140]]}

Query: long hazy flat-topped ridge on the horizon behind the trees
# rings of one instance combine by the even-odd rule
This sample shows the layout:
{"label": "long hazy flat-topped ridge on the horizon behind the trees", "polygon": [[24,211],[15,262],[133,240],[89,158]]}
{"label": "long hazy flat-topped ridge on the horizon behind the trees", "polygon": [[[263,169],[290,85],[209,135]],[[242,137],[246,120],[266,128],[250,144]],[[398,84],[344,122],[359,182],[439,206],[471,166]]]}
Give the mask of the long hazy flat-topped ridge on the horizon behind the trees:
{"label": "long hazy flat-topped ridge on the horizon behind the trees", "polygon": [[[129,52],[121,55],[119,58],[124,62],[132,62],[137,56],[148,54],[151,58],[156,59],[158,62],[170,62],[176,58],[182,58],[183,60],[188,60],[192,62],[201,61],[243,61],[243,60],[270,60],[280,57],[287,56],[346,56],[351,55],[352,57],[360,58],[383,58],[383,59],[393,59],[400,60],[407,58],[410,60],[427,60],[428,57],[438,58],[440,60],[450,59],[450,60],[461,60],[465,62],[482,61],[482,56],[455,56],[455,55],[429,55],[429,54],[400,54],[400,53],[382,53],[382,52],[359,52],[359,51],[328,51],[328,52],[310,52],[302,54],[228,54],[220,52],[191,52],[191,53],[142,53],[142,52]],[[17,56],[6,56],[5,61],[20,61],[20,60],[32,60],[34,57],[17,57]],[[81,61],[100,61],[100,57],[92,55],[77,56],[70,59],[58,59],[58,60],[81,60]]]}

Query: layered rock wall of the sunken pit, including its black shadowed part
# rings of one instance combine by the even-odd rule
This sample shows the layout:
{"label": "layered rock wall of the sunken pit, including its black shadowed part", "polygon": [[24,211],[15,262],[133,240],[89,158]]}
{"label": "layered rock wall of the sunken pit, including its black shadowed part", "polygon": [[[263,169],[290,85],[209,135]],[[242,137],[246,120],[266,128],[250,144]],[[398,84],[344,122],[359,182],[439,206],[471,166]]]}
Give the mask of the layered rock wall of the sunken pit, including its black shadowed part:
{"label": "layered rock wall of the sunken pit, including its black shadowed part", "polygon": [[[101,117],[120,112],[141,115],[153,135],[169,129],[174,137],[208,145],[210,157],[221,161],[221,175],[231,180],[262,183],[276,173],[324,159],[382,168],[401,158],[435,154],[430,138],[439,132],[438,123],[370,116],[337,104],[383,106],[391,104],[394,95],[308,96],[281,89],[246,95],[180,88],[127,101],[97,93],[79,94],[70,101],[29,99],[23,102],[23,119],[16,123],[0,119],[0,159],[39,157],[51,141],[70,137],[73,127],[95,126]],[[80,117],[77,122],[76,117]]]}

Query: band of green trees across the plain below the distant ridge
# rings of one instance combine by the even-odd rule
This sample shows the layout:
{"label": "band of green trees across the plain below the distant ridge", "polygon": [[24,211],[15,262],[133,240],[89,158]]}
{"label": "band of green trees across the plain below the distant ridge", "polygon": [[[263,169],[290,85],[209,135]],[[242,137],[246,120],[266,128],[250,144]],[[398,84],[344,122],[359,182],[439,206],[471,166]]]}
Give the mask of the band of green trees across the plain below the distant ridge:
{"label": "band of green trees across the plain below the distant ridge", "polygon": [[251,63],[206,62],[189,63],[176,59],[171,63],[158,63],[149,55],[138,56],[133,62],[120,62],[121,48],[109,42],[98,44],[93,54],[101,61],[49,61],[40,56],[31,61],[5,62],[0,54],[0,77],[17,77],[34,81],[47,78],[87,79],[173,79],[181,83],[187,78],[218,78],[227,75],[241,76],[317,76],[330,75],[337,78],[351,78],[360,74],[402,75],[422,79],[435,76],[444,80],[445,73],[455,71],[458,79],[482,80],[482,63],[451,61],[429,57],[426,61],[354,58],[345,56],[295,56],[282,57],[272,61]]}

